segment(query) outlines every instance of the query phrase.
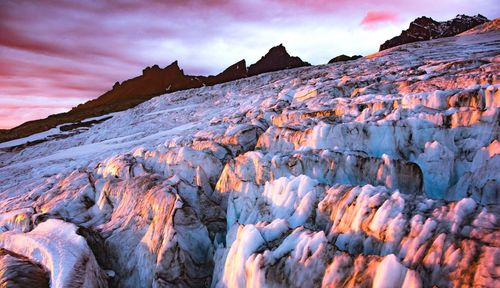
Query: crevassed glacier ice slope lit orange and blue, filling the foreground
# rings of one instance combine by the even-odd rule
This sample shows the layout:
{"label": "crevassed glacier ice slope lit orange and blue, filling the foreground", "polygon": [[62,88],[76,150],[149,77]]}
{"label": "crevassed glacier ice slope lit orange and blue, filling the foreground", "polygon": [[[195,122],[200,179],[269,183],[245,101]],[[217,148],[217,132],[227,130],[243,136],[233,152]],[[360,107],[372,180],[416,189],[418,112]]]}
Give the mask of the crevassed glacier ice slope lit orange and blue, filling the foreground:
{"label": "crevassed glacier ice slope lit orange and blue, filling the foreground", "polygon": [[499,29],[166,93],[3,150],[0,282],[498,287]]}

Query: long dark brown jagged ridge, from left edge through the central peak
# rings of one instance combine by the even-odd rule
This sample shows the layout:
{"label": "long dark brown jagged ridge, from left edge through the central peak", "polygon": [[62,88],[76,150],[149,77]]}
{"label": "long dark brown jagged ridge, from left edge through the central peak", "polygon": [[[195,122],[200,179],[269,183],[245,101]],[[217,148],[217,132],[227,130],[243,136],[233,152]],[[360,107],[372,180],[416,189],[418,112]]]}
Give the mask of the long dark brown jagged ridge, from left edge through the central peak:
{"label": "long dark brown jagged ridge, from left edge through the central peak", "polygon": [[221,84],[247,76],[310,65],[298,57],[291,57],[283,45],[272,48],[262,59],[248,70],[245,60],[241,60],[215,76],[185,75],[177,61],[165,68],[158,65],[147,67],[142,75],[116,82],[113,89],[96,99],[80,104],[69,112],[50,115],[45,119],[33,120],[8,130],[0,130],[0,143],[27,137],[54,129],[65,123],[72,127],[85,127],[81,121],[134,107],[166,92],[199,88]]}

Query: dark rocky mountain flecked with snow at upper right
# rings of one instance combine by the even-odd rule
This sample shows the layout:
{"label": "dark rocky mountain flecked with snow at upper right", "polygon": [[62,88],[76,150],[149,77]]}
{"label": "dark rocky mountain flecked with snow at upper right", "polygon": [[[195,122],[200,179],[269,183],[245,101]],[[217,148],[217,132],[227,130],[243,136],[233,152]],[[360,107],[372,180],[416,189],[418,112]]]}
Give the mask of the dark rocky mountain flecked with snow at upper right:
{"label": "dark rocky mountain flecked with snow at upper right", "polygon": [[430,17],[419,17],[410,23],[410,27],[380,45],[380,51],[416,41],[450,37],[488,22],[481,14],[476,16],[457,15],[455,18],[438,22]]}

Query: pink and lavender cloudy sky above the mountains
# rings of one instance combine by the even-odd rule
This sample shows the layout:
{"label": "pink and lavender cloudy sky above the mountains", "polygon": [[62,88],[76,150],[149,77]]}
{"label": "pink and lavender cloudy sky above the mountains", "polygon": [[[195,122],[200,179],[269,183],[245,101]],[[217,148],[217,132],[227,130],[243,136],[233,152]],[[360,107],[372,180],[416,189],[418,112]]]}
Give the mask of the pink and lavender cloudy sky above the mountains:
{"label": "pink and lavender cloudy sky above the mountains", "polygon": [[0,0],[0,129],[178,60],[191,75],[283,44],[313,65],[367,55],[419,16],[500,16],[497,0]]}

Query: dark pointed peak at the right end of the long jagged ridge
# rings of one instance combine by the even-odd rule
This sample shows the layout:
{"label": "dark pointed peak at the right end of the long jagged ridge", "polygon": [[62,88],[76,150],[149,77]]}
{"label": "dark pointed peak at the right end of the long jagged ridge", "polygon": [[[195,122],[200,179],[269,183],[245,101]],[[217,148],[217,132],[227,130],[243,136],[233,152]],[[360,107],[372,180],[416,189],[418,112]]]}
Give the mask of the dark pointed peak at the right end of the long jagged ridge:
{"label": "dark pointed peak at the right end of the long jagged ridge", "polygon": [[280,44],[271,48],[259,61],[248,67],[248,76],[273,72],[283,69],[310,66],[311,64],[302,61],[299,57],[290,56],[285,46]]}

